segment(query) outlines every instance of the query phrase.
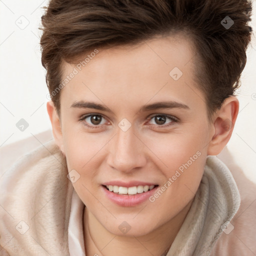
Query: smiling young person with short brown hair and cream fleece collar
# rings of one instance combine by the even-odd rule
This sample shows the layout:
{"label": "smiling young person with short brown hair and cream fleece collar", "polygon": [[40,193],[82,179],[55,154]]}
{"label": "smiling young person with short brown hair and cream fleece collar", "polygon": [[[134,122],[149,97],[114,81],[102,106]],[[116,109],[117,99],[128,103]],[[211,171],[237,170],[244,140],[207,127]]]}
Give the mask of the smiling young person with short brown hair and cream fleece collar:
{"label": "smiling young person with short brown hair and cream fleece collar", "polygon": [[247,0],[50,0],[54,142],[1,184],[0,255],[235,255],[217,241],[240,196],[215,155],[238,114],[250,12]]}

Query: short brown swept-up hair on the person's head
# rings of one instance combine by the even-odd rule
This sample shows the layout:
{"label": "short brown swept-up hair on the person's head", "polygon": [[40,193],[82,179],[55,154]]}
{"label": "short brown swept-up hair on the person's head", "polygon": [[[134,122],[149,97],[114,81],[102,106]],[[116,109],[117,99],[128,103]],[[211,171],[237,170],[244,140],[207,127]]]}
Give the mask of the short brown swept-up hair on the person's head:
{"label": "short brown swept-up hair on the person's head", "polygon": [[[193,59],[195,80],[211,116],[240,85],[251,10],[249,0],[50,0],[40,28],[49,93],[61,82],[63,60],[71,62],[95,48],[183,32],[198,53]],[[227,20],[231,27],[224,26]],[[59,97],[51,96],[58,114]]]}

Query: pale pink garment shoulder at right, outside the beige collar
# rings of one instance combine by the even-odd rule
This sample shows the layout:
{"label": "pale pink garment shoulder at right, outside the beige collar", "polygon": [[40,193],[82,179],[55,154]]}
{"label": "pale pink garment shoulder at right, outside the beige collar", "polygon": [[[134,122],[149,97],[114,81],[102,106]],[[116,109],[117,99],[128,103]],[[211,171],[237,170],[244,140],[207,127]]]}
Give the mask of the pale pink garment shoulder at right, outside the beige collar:
{"label": "pale pink garment shoulder at right, outside the beige collar", "polygon": [[256,254],[256,184],[237,165],[226,165],[237,184],[241,204],[214,245],[211,256],[253,256]]}

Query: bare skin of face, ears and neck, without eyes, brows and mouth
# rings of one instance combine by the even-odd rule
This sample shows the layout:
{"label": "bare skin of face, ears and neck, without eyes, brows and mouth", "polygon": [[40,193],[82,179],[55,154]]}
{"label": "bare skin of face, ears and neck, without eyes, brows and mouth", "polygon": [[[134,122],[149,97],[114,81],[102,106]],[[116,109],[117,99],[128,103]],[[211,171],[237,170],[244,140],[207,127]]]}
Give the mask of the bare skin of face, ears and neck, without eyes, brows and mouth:
{"label": "bare skin of face, ears and neck, without eyes, brows and mouth", "polygon": [[[53,136],[66,156],[68,171],[75,169],[80,175],[73,187],[86,205],[86,255],[161,255],[189,210],[206,156],[218,154],[228,142],[238,100],[226,98],[213,121],[207,119],[205,97],[194,82],[195,52],[190,40],[177,35],[99,49],[62,88],[60,116],[52,102],[47,103]],[[63,62],[63,77],[74,67]],[[173,67],[183,72],[176,81],[169,75]],[[103,104],[112,112],[70,107],[79,100]],[[189,108],[139,111],[145,104],[167,100]],[[79,121],[85,114],[101,115],[100,124],[90,117]],[[167,117],[161,123],[155,117],[161,114],[178,121]],[[126,131],[118,126],[123,118],[131,124]],[[101,184],[114,179],[161,187],[197,151],[200,156],[154,202],[122,207],[102,193]],[[130,226],[125,234],[118,228],[123,221]]]}

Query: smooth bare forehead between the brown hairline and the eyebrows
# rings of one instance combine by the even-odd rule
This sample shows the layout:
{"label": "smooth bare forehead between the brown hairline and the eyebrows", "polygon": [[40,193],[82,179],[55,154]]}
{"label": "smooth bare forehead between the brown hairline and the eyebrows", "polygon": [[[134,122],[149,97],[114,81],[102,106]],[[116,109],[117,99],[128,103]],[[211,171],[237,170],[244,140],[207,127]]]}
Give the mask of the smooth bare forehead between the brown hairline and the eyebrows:
{"label": "smooth bare forehead between the brown hairline and the eyebrows", "polygon": [[81,56],[77,64],[63,63],[63,79],[75,74],[63,87],[60,101],[70,106],[90,98],[138,107],[153,98],[198,104],[203,97],[194,83],[195,50],[187,38],[157,37],[94,52]]}

